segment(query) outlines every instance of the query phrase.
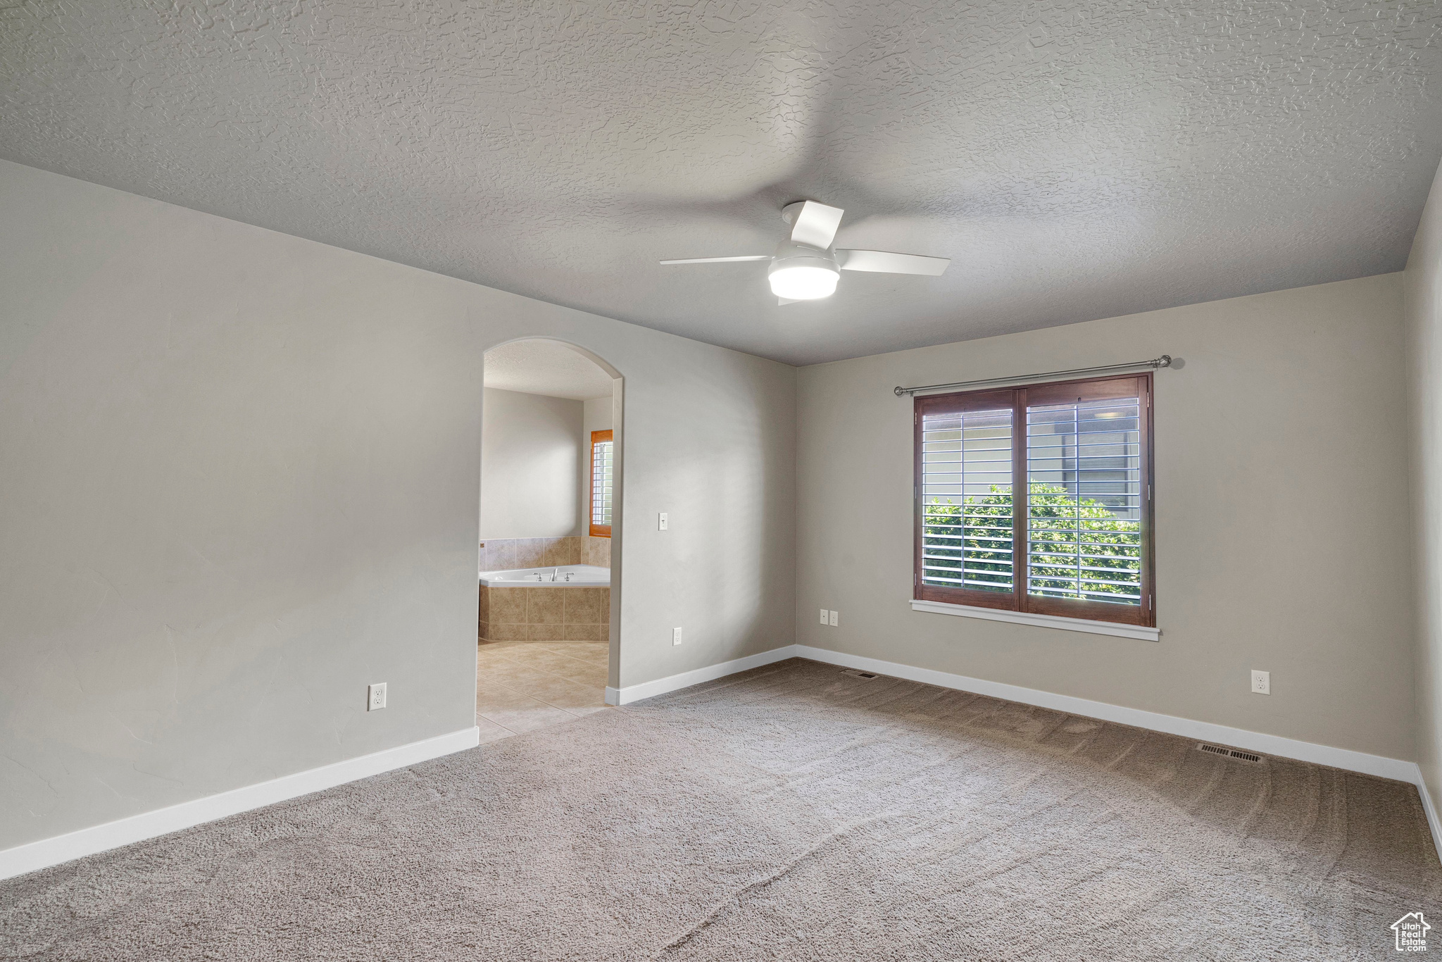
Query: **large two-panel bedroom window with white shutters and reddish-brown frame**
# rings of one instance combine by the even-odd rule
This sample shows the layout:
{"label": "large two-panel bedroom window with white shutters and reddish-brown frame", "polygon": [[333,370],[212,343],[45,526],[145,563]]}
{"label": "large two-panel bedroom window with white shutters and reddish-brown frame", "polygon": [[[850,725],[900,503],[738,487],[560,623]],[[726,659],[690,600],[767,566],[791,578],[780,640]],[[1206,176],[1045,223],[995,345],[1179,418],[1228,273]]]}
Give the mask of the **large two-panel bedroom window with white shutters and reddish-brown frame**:
{"label": "large two-panel bedroom window with white shutters and reddish-brown frame", "polygon": [[913,597],[1155,626],[1151,387],[917,398]]}

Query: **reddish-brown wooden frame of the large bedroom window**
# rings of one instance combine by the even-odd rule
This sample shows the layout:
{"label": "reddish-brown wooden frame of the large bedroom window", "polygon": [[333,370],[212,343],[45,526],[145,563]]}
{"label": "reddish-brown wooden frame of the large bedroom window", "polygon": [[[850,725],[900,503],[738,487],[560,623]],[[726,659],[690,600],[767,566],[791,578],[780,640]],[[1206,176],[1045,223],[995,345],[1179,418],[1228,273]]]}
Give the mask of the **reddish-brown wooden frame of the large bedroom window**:
{"label": "reddish-brown wooden frame of the large bedroom window", "polygon": [[[1133,385],[1133,387],[1126,387]],[[1027,477],[1027,408],[1041,404],[1066,404],[1070,401],[1100,401],[1106,398],[1136,397],[1138,434],[1141,443],[1141,604],[1115,604],[1083,599],[1058,599],[1028,594],[1030,552],[1027,519],[1030,483]],[[994,411],[1011,408],[1012,412],[1012,590],[982,591],[978,588],[924,584],[921,578],[923,554],[923,477],[921,477],[921,420],[929,414],[960,414],[965,411]],[[1089,622],[1113,622],[1142,627],[1156,626],[1155,593],[1155,529],[1152,518],[1152,375],[1136,374],[1109,378],[1086,378],[1082,381],[1053,381],[1044,384],[1018,385],[1012,388],[985,388],[981,391],[959,391],[955,394],[920,395],[913,414],[913,568],[911,596],[923,601],[965,604],[969,607],[1001,609],[1008,612],[1030,612],[1074,617]]]}

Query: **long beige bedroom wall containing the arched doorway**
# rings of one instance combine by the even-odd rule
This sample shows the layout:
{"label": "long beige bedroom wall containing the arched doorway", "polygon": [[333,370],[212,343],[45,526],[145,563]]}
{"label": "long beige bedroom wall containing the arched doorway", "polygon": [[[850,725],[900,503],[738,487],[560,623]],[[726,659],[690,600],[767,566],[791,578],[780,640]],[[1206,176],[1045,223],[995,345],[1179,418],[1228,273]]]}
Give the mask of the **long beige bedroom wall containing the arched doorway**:
{"label": "long beige bedroom wall containing the arched doorway", "polygon": [[786,365],[4,162],[0,291],[0,848],[474,724],[516,337],[624,378],[611,682],[792,640]]}

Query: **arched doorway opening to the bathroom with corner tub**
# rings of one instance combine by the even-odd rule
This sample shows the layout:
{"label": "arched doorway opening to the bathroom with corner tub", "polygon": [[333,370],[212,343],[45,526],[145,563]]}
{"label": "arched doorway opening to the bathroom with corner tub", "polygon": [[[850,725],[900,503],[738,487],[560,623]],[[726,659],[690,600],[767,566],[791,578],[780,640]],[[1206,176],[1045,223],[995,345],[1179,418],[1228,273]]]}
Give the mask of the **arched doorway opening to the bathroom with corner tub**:
{"label": "arched doorway opening to the bathroom with corner tub", "polygon": [[476,724],[505,738],[604,711],[619,661],[620,372],[523,337],[486,352]]}

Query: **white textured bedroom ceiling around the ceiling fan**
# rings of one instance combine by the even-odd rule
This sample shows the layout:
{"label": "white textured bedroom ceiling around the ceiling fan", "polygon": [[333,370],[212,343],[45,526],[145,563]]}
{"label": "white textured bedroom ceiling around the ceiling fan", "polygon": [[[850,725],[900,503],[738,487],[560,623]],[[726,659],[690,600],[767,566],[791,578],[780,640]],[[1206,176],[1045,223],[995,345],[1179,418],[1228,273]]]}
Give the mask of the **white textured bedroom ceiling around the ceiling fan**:
{"label": "white textured bedroom ceiling around the ceiling fan", "polygon": [[[0,9],[0,156],[789,362],[1403,267],[1442,4]],[[776,306],[783,203],[953,258]]]}

